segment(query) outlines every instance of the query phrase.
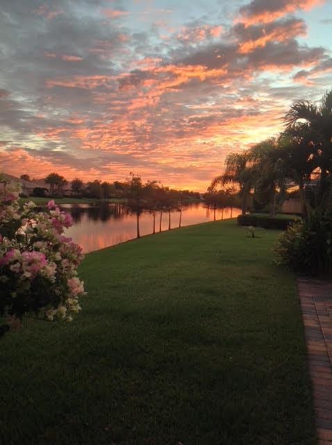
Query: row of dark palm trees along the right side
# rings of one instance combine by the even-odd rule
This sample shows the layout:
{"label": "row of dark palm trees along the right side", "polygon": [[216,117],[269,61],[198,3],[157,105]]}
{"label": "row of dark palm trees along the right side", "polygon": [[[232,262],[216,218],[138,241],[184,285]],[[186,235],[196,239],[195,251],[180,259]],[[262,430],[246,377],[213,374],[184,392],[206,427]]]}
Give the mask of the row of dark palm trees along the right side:
{"label": "row of dark palm trees along the right side", "polygon": [[306,188],[317,176],[311,205],[326,213],[332,209],[332,90],[317,104],[305,99],[290,106],[284,117],[285,131],[247,150],[229,154],[225,170],[215,177],[209,191],[235,185],[248,210],[249,196],[268,204],[272,215],[289,184],[299,188],[301,213],[308,213]]}

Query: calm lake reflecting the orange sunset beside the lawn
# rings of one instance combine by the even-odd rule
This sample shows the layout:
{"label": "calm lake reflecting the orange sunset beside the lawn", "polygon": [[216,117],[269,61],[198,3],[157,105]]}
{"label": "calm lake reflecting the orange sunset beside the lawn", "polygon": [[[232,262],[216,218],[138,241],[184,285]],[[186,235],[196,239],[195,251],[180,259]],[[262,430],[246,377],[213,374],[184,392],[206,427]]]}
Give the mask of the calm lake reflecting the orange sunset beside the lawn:
{"label": "calm lake reflecting the orange sunset beside the lawn", "polygon": [[[62,204],[61,209],[72,215],[74,225],[66,229],[65,235],[73,238],[85,253],[106,248],[136,238],[136,216],[124,204],[103,204],[98,207],[89,204]],[[240,209],[226,208],[215,211],[216,220],[235,218]],[[171,227],[179,227],[179,212],[171,213]],[[159,231],[160,213],[156,213],[156,232]],[[204,203],[183,207],[181,227],[213,221],[214,211]],[[162,230],[168,229],[168,213],[163,213]],[[140,215],[140,235],[153,231],[153,216],[144,212]]]}

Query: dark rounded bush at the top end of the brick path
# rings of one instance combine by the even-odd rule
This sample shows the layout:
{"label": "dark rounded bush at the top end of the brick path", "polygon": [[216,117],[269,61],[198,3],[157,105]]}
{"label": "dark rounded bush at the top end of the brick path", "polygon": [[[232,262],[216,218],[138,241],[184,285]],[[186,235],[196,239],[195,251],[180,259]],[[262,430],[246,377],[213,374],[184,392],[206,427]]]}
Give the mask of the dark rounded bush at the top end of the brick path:
{"label": "dark rounded bush at the top end of the brick path", "polygon": [[305,223],[294,223],[279,236],[274,248],[279,264],[296,272],[326,275],[332,272],[332,221],[319,211]]}

